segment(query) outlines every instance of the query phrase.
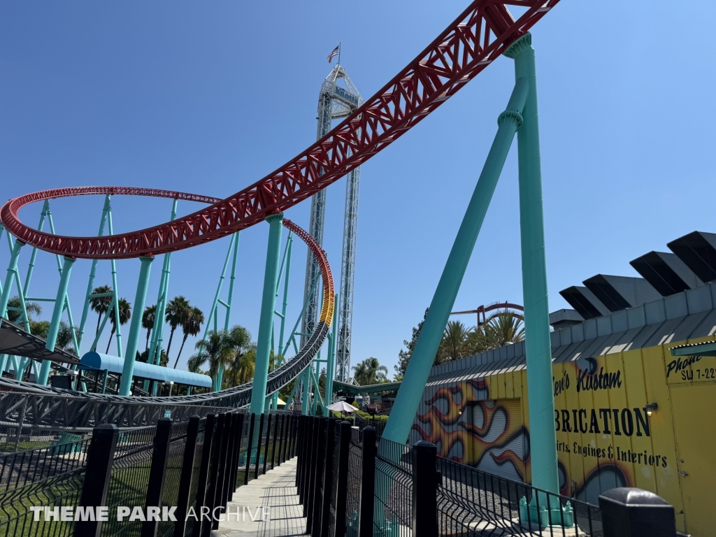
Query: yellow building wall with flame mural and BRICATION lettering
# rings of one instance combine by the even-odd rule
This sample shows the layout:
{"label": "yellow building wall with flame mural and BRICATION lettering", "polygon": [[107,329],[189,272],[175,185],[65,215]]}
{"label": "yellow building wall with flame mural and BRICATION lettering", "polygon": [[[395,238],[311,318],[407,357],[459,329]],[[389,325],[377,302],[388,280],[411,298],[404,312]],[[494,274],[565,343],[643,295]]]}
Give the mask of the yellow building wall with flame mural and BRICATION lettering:
{"label": "yellow building wall with flame mural and BRICATION lettering", "polygon": [[[562,494],[652,490],[680,531],[716,535],[715,306],[712,282],[552,333]],[[524,344],[433,367],[410,440],[529,482]]]}

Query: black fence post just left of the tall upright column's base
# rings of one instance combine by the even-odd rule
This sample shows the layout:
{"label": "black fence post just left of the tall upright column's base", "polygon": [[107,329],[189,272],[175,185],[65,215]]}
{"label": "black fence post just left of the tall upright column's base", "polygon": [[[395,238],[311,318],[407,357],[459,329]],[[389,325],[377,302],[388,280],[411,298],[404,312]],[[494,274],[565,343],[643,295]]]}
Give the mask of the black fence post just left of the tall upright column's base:
{"label": "black fence post just left of the tall upright column's base", "polygon": [[425,440],[412,446],[412,535],[437,537],[437,448]]}

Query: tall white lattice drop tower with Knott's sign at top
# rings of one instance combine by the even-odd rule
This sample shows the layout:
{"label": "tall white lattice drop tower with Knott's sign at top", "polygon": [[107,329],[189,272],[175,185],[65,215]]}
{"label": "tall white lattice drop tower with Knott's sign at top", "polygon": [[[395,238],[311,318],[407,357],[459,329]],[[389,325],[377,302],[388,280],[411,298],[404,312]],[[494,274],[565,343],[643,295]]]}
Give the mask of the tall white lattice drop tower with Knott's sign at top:
{"label": "tall white lattice drop tower with Knott's sign at top", "polygon": [[[342,84],[339,84],[339,82]],[[321,84],[316,140],[320,140],[331,131],[332,120],[348,117],[362,104],[363,97],[361,97],[357,87],[355,87],[342,65],[340,63],[336,64],[323,84]],[[347,382],[350,377],[359,185],[360,168],[358,167],[347,175],[346,180],[346,209],[343,224],[335,374],[335,378],[341,382]],[[323,246],[325,216],[326,190],[320,190],[311,198],[311,220],[308,231],[321,246]],[[319,296],[316,291],[311,294],[311,289],[317,289],[317,281],[320,277],[321,271],[318,261],[313,253],[309,251],[306,258],[306,282],[304,285],[304,303],[307,301],[308,305],[301,320],[301,332],[303,334],[311,334],[316,327],[319,314]],[[301,336],[301,344],[304,344],[307,339],[306,336]]]}

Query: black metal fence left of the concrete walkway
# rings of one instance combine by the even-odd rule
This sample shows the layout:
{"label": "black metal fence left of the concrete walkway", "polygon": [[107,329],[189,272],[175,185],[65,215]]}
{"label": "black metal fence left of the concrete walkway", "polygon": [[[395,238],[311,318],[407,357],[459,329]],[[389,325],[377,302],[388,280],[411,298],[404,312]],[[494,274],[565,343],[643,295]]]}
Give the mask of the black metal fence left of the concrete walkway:
{"label": "black metal fence left of the concrete walkway", "polygon": [[[298,420],[235,411],[130,429],[105,424],[91,438],[0,454],[0,537],[207,537],[218,521],[201,513],[219,516],[238,486],[293,457]],[[107,521],[63,520],[61,507],[77,518],[100,506]],[[171,509],[176,521],[143,521],[132,516],[135,506],[143,515]]]}

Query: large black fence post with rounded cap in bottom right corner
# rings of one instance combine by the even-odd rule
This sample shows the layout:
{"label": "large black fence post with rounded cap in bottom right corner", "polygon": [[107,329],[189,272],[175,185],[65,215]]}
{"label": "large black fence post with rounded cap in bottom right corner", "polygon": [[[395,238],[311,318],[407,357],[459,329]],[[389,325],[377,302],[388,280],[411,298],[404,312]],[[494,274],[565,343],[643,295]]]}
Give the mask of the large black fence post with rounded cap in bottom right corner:
{"label": "large black fence post with rounded cap in bottom right corner", "polygon": [[674,537],[676,516],[666,500],[640,488],[612,488],[599,496],[604,537]]}

